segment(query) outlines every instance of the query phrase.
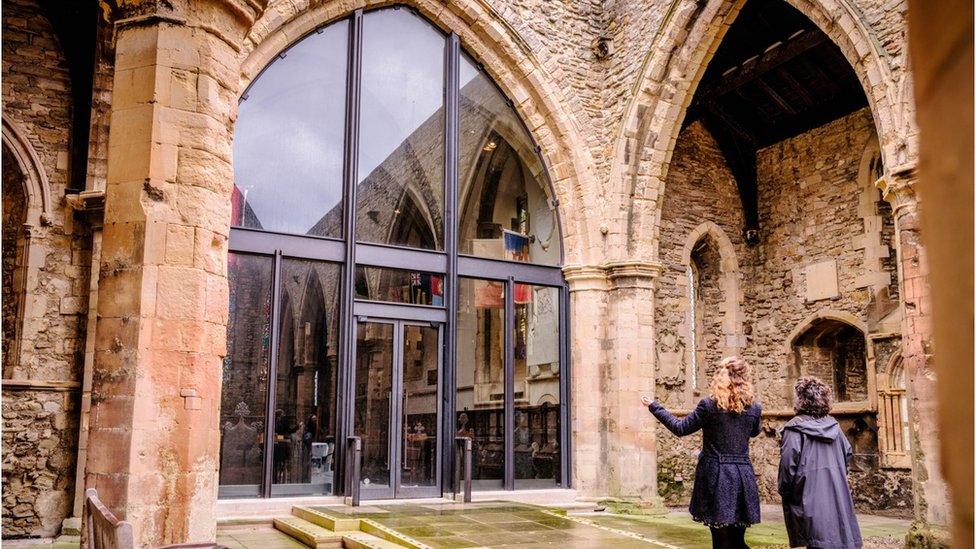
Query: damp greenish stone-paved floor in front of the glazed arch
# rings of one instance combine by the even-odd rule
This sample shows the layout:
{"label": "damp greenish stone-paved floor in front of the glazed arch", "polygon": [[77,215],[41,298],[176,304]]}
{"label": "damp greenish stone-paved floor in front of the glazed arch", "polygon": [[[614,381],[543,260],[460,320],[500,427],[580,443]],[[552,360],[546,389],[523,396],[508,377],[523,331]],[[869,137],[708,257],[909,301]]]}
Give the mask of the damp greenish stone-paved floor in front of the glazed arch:
{"label": "damp greenish stone-paved floor in front of the glazed arch", "polygon": [[[316,507],[336,516],[367,518],[409,536],[434,549],[465,547],[659,547],[707,549],[708,530],[682,510],[649,517],[611,513],[561,515],[542,507],[508,502],[429,503]],[[782,513],[776,506],[763,507],[762,524],[750,528],[746,542],[753,548],[787,547]],[[908,521],[859,516],[868,549],[902,547]],[[302,549],[304,545],[270,526],[222,527],[218,543],[230,549]],[[8,545],[5,541],[4,545]],[[74,549],[76,543],[18,540],[12,546],[31,549]]]}

